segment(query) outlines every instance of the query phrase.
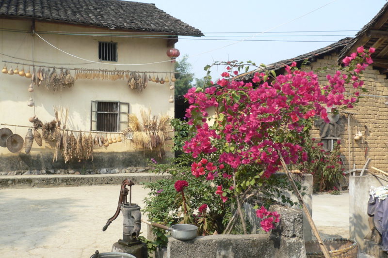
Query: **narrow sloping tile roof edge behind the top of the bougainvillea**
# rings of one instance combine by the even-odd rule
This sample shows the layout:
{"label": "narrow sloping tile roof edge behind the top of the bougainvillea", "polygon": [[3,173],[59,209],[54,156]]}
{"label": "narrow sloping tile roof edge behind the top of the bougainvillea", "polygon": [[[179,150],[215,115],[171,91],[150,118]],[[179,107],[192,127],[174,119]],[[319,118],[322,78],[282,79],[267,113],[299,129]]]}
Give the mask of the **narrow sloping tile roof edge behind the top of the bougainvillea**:
{"label": "narrow sloping tile roof edge behind the top of the bougainvillea", "polygon": [[347,44],[349,44],[349,42],[351,40],[352,40],[352,38],[349,38],[349,37],[341,39],[338,42],[333,43],[333,44],[331,44],[329,46],[325,46],[323,48],[311,51],[311,52],[309,52],[307,54],[303,54],[303,55],[300,55],[300,56],[297,56],[297,57],[294,57],[294,58],[291,58],[291,59],[286,59],[286,60],[282,60],[282,61],[278,61],[278,62],[269,64],[269,65],[267,65],[267,68],[265,68],[265,69],[257,69],[257,70],[248,72],[246,74],[242,74],[242,75],[240,75],[238,77],[235,77],[235,79],[238,79],[238,80],[249,80],[259,70],[261,70],[261,71],[262,70],[274,70],[276,72],[277,70],[280,70],[280,69],[286,67],[286,65],[291,65],[291,63],[294,62],[294,61],[297,62],[298,65],[299,65],[303,61],[305,61],[306,59],[310,60],[312,58],[321,58],[321,57],[323,57],[325,55],[329,55],[329,54],[331,54],[333,52],[339,52],[343,47],[345,47]]}

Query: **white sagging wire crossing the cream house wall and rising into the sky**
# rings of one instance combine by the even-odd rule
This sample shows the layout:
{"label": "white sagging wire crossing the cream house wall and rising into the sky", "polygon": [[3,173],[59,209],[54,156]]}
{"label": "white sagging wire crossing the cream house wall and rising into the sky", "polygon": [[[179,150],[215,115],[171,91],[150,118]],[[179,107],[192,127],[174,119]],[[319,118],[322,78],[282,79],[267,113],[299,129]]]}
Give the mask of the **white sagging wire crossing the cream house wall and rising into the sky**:
{"label": "white sagging wire crossing the cream house wall and rising into the sky", "polygon": [[[328,3],[326,3],[326,4],[324,4],[324,5],[322,5],[322,6],[318,7],[318,8],[316,8],[316,9],[310,11],[310,12],[307,12],[307,13],[304,14],[304,15],[300,15],[300,16],[294,18],[294,19],[291,19],[290,21],[281,23],[281,24],[279,24],[279,25],[277,25],[277,26],[275,26],[275,27],[272,27],[272,28],[270,28],[270,29],[268,29],[268,30],[265,30],[265,31],[262,31],[262,32],[260,32],[260,33],[264,33],[264,32],[270,31],[270,30],[275,30],[275,29],[277,29],[277,28],[279,28],[279,27],[281,27],[281,26],[283,26],[283,25],[289,24],[289,23],[291,23],[291,22],[293,22],[293,21],[295,21],[295,20],[297,20],[297,19],[300,19],[300,18],[302,18],[302,17],[304,17],[304,16],[306,16],[306,15],[309,15],[309,14],[311,14],[311,13],[317,11],[317,10],[320,10],[320,9],[322,9],[323,7],[325,7],[325,6],[327,6],[327,5],[331,4],[331,3],[333,3],[333,2],[335,2],[335,1],[337,1],[337,0],[332,0],[332,1],[330,1],[330,2],[328,2]],[[131,65],[150,65],[150,64],[157,64],[157,63],[163,63],[163,62],[169,62],[169,61],[170,61],[170,60],[166,60],[166,61],[158,61],[158,62],[150,62],[150,63],[141,63],[141,64],[114,64],[114,63],[103,63],[103,62],[92,61],[92,60],[84,59],[84,58],[75,56],[75,55],[73,55],[73,54],[70,54],[70,53],[68,53],[68,52],[66,52],[66,51],[64,51],[64,50],[62,50],[62,49],[60,49],[60,48],[58,48],[58,47],[52,45],[51,43],[49,43],[47,40],[45,40],[44,38],[42,38],[42,37],[41,37],[39,34],[37,34],[36,32],[34,32],[34,33],[35,33],[35,35],[37,35],[41,40],[43,40],[44,42],[46,42],[46,43],[49,44],[50,46],[54,47],[55,49],[57,49],[57,50],[59,50],[59,51],[65,53],[65,54],[67,54],[67,55],[69,55],[69,56],[72,56],[72,57],[74,57],[74,58],[78,58],[78,59],[81,59],[81,60],[84,60],[84,61],[88,61],[88,62],[99,63],[99,64],[106,64],[106,65],[117,65],[117,66],[118,66],[118,65],[128,65],[128,66],[131,66]],[[258,34],[260,34],[260,33],[258,33]],[[201,52],[201,53],[199,53],[199,54],[195,54],[195,55],[192,55],[192,56],[186,56],[186,57],[184,57],[184,58],[178,58],[178,60],[188,59],[188,58],[190,58],[190,57],[195,57],[195,56],[207,54],[207,53],[210,53],[210,52],[213,52],[213,51],[216,51],[216,50],[219,50],[219,49],[228,47],[228,46],[235,45],[235,44],[240,43],[240,42],[243,42],[243,41],[247,41],[247,40],[249,40],[250,38],[253,38],[253,37],[255,37],[255,36],[256,36],[256,35],[253,35],[253,36],[244,38],[244,39],[242,39],[242,40],[237,40],[237,41],[234,42],[234,43],[230,43],[230,44],[225,45],[225,46],[221,46],[221,47],[217,47],[217,48],[214,48],[214,49],[210,49],[210,50],[208,50],[208,51]]]}

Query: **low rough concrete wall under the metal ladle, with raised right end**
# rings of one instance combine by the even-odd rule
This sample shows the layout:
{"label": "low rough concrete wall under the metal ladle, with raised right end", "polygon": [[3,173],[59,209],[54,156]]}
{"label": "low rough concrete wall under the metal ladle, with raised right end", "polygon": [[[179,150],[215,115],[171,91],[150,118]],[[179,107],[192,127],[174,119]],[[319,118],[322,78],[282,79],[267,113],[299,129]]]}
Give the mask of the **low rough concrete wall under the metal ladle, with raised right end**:
{"label": "low rough concrete wall under the metal ladle, with raised right end", "polygon": [[280,222],[272,233],[252,235],[200,236],[190,241],[172,237],[167,245],[167,258],[304,258],[302,211],[273,205]]}

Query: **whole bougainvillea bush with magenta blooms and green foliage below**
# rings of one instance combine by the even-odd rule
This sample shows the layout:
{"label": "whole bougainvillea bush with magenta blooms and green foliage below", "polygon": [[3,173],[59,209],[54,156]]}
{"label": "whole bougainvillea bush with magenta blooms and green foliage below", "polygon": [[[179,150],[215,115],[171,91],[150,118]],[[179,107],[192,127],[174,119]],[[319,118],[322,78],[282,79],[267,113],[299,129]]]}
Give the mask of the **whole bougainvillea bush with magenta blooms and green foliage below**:
{"label": "whole bougainvillea bush with magenta blooms and green foliage below", "polygon": [[[146,184],[151,190],[145,209],[149,219],[165,224],[190,222],[205,235],[246,233],[249,225],[245,225],[242,202],[247,192],[258,190],[266,200],[281,195],[279,189],[287,188],[287,182],[272,176],[280,168],[280,156],[288,165],[308,160],[304,137],[313,118],[328,121],[327,107],[338,112],[356,104],[365,91],[360,74],[372,63],[373,51],[357,48],[357,53],[344,59],[344,66],[330,70],[324,84],[318,82],[317,72],[299,70],[296,63],[287,66],[284,75],[262,69],[252,82],[233,77],[246,64],[217,63],[226,67],[222,78],[185,95],[190,104],[185,153],[173,163],[155,165],[154,172],[166,172],[171,178]],[[354,96],[344,94],[348,86],[354,88]],[[209,108],[215,108],[214,117],[209,116]],[[283,202],[293,204],[287,198]],[[269,203],[258,203],[256,212],[264,231],[280,219],[267,210]],[[241,223],[233,231],[230,225],[236,214]],[[164,232],[153,231],[165,243]]]}

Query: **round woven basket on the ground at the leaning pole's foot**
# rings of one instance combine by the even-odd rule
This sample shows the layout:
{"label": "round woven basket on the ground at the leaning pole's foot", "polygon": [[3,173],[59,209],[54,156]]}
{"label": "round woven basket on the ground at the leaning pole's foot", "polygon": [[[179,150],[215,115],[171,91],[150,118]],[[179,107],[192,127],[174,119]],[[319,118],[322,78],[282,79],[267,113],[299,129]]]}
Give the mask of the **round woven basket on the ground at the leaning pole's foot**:
{"label": "round woven basket on the ground at the leaning pole's foot", "polygon": [[[323,240],[324,245],[335,258],[357,258],[358,244],[353,239],[336,238]],[[318,241],[306,242],[307,258],[324,258],[323,252],[319,247]]]}

